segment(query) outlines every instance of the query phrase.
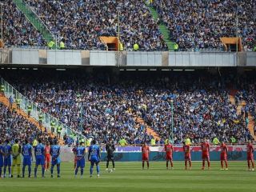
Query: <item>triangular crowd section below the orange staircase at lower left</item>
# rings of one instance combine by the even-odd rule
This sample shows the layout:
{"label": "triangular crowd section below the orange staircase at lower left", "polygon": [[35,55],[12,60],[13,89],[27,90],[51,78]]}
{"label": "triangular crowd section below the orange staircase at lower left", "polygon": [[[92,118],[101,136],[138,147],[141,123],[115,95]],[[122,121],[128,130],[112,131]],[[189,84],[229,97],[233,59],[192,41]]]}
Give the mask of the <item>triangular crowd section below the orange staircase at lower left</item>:
{"label": "triangular crowd section below the orange staircase at lower left", "polygon": [[14,142],[15,138],[22,142],[25,139],[33,142],[34,139],[38,140],[40,138],[43,142],[49,141],[50,143],[54,139],[46,131],[38,129],[37,126],[23,118],[15,110],[10,110],[9,107],[0,102],[0,139],[2,142],[6,139]]}

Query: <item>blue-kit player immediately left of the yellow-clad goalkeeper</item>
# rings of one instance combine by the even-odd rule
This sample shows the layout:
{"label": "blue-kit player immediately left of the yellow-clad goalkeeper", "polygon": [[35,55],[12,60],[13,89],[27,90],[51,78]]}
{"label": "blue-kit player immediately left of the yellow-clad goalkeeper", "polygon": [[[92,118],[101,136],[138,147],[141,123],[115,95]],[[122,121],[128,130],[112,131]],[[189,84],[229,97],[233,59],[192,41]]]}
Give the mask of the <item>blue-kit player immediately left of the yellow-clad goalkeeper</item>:
{"label": "blue-kit player immediately left of the yellow-clad goalkeeper", "polygon": [[9,178],[11,177],[10,174],[10,166],[11,166],[11,146],[9,144],[9,140],[6,139],[5,144],[2,146],[2,154],[3,154],[3,177],[6,178],[6,167],[8,166]]}

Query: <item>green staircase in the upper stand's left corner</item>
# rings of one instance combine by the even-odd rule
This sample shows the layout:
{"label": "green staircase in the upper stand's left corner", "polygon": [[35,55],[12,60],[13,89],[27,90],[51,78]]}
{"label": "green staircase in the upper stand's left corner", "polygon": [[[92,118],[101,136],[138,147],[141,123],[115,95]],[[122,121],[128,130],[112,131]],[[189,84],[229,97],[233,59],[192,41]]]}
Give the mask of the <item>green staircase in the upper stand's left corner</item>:
{"label": "green staircase in the upper stand's left corner", "polygon": [[38,17],[33,10],[31,10],[30,6],[24,2],[24,0],[13,0],[15,5],[18,7],[19,10],[26,16],[26,18],[30,21],[30,23],[36,28],[46,40],[46,42],[50,42],[54,40],[54,35],[50,33],[50,30],[47,26],[42,22],[41,18]]}

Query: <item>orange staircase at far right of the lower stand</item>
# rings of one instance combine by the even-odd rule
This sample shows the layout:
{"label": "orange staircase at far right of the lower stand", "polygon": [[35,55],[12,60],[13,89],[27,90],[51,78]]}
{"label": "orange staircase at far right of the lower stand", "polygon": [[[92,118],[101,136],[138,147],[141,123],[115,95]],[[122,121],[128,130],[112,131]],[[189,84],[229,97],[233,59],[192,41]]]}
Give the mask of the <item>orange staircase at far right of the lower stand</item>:
{"label": "orange staircase at far right of the lower stand", "polygon": [[[234,94],[236,92],[234,90],[230,91],[230,102],[234,105]],[[241,114],[241,108],[242,106],[246,106],[246,102],[242,100],[242,102],[239,103],[238,108],[237,108],[237,114]],[[248,125],[248,130],[250,131],[251,136],[254,138],[254,141],[256,141],[256,136],[254,135],[254,118],[252,115],[249,113],[248,114],[249,118],[249,125]]]}

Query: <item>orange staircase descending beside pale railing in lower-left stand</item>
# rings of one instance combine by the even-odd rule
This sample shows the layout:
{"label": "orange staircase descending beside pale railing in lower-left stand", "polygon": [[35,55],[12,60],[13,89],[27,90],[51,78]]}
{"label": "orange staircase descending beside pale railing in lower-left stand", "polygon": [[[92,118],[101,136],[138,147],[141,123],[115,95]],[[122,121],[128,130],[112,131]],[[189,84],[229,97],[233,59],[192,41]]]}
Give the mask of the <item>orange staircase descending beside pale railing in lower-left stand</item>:
{"label": "orange staircase descending beside pale railing in lower-left stand", "polygon": [[[5,106],[10,107],[10,102],[9,102],[8,98],[0,96],[0,102]],[[36,121],[34,118],[29,117],[28,114],[26,114],[23,110],[18,110],[17,105],[15,103],[14,103],[12,109],[10,109],[10,110],[15,110],[17,112],[17,114],[22,115],[23,118],[26,118],[29,122],[34,124],[34,126],[37,126],[40,130],[42,130],[42,131],[46,130],[46,127],[40,126],[38,121]],[[51,135],[52,137],[55,136],[54,134],[51,134],[50,131],[47,131],[47,134]],[[59,139],[59,142],[61,145],[64,144],[64,141],[62,139]]]}

